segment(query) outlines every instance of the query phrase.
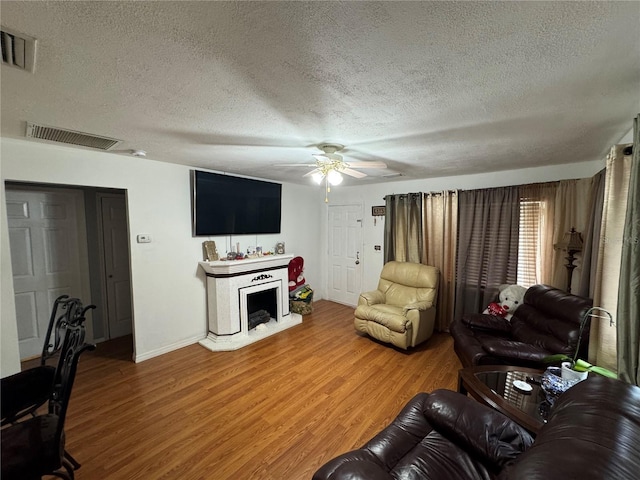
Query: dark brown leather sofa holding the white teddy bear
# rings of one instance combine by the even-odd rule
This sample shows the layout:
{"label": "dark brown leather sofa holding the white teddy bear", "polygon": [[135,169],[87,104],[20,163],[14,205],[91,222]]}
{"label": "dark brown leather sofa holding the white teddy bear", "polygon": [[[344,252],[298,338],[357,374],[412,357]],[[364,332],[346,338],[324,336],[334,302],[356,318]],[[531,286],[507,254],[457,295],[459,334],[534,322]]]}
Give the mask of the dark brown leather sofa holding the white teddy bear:
{"label": "dark brown leather sofa holding the white teddy bear", "polygon": [[[511,321],[481,313],[465,314],[449,331],[462,365],[518,365],[542,368],[543,359],[555,353],[573,356],[580,322],[591,308],[588,298],[547,285],[533,285]],[[587,324],[579,355],[586,358]]]}

